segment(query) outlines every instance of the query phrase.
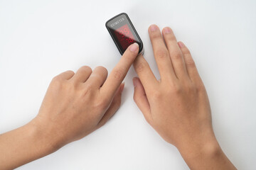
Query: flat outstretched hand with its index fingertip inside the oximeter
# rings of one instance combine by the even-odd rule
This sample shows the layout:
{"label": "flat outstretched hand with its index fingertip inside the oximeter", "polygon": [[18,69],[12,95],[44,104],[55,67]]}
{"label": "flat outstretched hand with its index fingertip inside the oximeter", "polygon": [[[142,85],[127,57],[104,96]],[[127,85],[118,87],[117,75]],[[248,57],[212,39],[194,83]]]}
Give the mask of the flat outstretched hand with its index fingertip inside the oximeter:
{"label": "flat outstretched hand with its index fingertip inside the oximeter", "polygon": [[[203,157],[213,159],[213,154],[223,153],[213,132],[206,88],[188,48],[176,41],[171,28],[164,28],[162,33],[164,39],[157,26],[149,27],[161,79],[156,80],[142,55],[137,57],[134,68],[139,78],[133,79],[134,101],[146,121],[178,148],[191,169],[206,169],[210,164]],[[200,158],[203,163],[196,164],[195,159]],[[226,159],[220,162],[229,162]]]}

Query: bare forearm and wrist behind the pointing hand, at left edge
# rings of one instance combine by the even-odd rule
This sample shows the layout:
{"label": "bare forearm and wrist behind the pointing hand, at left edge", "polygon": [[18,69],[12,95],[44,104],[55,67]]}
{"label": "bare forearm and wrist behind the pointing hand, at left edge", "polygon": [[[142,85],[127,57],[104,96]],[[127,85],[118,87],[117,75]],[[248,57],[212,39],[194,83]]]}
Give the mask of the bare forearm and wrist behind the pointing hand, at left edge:
{"label": "bare forearm and wrist behind the pointing hand, at left edge", "polygon": [[56,147],[48,139],[33,121],[0,135],[0,169],[15,169],[51,154]]}

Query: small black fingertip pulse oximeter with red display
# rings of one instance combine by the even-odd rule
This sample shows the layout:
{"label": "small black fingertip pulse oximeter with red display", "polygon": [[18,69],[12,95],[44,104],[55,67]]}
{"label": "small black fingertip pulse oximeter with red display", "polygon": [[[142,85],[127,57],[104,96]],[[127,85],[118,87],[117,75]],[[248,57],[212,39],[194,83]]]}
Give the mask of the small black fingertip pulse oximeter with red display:
{"label": "small black fingertip pulse oximeter with red display", "polygon": [[106,22],[106,27],[121,55],[123,55],[124,51],[127,50],[127,47],[134,42],[138,43],[139,54],[143,55],[144,47],[142,40],[139,38],[127,13],[120,13],[119,15],[114,16]]}

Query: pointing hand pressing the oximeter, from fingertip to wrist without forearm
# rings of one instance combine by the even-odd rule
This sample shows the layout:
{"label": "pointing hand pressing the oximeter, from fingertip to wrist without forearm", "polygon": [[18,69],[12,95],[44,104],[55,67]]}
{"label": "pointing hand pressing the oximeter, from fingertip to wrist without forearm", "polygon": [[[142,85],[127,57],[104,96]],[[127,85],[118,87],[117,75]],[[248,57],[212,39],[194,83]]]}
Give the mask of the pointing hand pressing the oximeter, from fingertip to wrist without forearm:
{"label": "pointing hand pressing the oximeter, from fingertip to wrist without forearm", "polygon": [[124,84],[122,80],[138,54],[135,43],[107,77],[107,69],[93,72],[84,66],[53,78],[41,109],[33,123],[48,133],[54,147],[61,147],[100,128],[118,110]]}

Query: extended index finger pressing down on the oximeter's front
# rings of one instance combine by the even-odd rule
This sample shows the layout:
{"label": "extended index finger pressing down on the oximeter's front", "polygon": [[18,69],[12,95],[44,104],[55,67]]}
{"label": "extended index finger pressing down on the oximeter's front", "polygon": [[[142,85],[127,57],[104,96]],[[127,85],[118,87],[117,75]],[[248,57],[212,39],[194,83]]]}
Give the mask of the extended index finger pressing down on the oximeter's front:
{"label": "extended index finger pressing down on the oximeter's front", "polygon": [[122,83],[129,68],[137,57],[138,52],[139,45],[135,42],[127,48],[117,65],[112,69],[110,76],[107,77],[107,80],[100,88],[100,91],[105,94],[107,98],[112,98],[114,96],[115,91],[117,91]]}

